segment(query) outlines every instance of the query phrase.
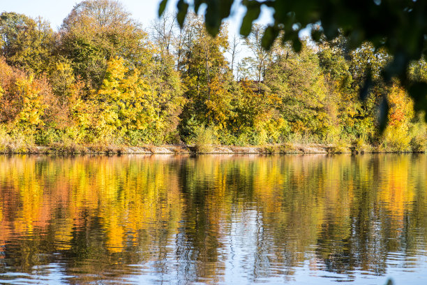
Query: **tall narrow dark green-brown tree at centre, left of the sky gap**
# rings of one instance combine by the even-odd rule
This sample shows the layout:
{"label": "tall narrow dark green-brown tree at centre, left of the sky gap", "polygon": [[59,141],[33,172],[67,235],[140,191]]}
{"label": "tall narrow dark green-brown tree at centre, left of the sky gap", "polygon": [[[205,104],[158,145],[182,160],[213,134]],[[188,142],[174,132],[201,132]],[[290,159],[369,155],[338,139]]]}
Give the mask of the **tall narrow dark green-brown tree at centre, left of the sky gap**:
{"label": "tall narrow dark green-brown tree at centre, left of the sky gap", "polygon": [[195,116],[198,122],[223,126],[230,115],[228,84],[232,81],[224,52],[227,50],[227,29],[216,37],[200,29],[202,21],[193,15],[188,19],[185,54],[180,61],[183,84],[186,87],[186,108],[183,119]]}

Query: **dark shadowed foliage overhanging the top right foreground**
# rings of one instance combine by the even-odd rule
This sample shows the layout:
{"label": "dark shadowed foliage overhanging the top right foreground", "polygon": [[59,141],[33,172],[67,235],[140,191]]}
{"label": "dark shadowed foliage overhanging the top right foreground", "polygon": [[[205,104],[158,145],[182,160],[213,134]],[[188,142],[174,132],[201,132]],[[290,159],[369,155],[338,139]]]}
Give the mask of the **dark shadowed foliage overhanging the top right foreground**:
{"label": "dark shadowed foliage overhanging the top right foreground", "polygon": [[[159,15],[165,10],[167,1],[160,2]],[[291,41],[294,50],[301,50],[299,31],[307,27],[315,27],[312,29],[315,41],[320,41],[322,34],[331,40],[342,31],[352,48],[359,47],[366,41],[372,43],[375,49],[384,47],[393,57],[384,68],[382,77],[386,81],[398,77],[414,99],[415,110],[427,110],[427,82],[413,81],[408,73],[408,66],[412,61],[427,56],[427,3],[424,1],[383,0],[355,3],[335,0],[179,0],[179,24],[182,26],[190,6],[198,13],[202,3],[206,5],[205,25],[213,36],[220,31],[221,21],[230,15],[232,7],[237,6],[246,8],[240,33],[248,36],[253,21],[260,16],[264,6],[274,10],[273,24],[266,27],[262,38],[262,45],[267,49],[274,44],[276,38],[280,38],[284,43]],[[386,111],[389,109],[387,104],[385,100],[383,109]],[[382,112],[380,117],[384,121],[387,112]]]}

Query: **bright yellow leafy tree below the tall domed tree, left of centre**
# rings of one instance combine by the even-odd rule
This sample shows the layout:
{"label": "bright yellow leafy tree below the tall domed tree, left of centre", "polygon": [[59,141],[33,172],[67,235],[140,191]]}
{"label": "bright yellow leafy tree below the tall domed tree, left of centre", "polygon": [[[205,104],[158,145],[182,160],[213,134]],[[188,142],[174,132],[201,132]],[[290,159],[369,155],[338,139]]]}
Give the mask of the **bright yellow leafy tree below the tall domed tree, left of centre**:
{"label": "bright yellow leafy tree below the tall domed tree, left of centre", "polygon": [[[165,94],[166,93],[166,94]],[[91,99],[96,126],[86,127],[100,138],[128,138],[128,143],[164,142],[177,127],[181,97],[158,92],[156,85],[124,59],[108,61],[103,85]],[[169,98],[167,96],[170,96]]]}

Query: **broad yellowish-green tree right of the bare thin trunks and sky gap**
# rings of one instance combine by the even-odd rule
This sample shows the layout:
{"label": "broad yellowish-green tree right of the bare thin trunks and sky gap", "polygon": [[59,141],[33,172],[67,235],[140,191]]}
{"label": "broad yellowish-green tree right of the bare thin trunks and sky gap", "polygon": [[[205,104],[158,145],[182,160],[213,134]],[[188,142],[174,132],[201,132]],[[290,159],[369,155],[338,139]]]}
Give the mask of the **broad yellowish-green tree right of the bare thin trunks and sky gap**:
{"label": "broad yellowish-green tree right of the bare thin trunks and sky gap", "polygon": [[278,47],[275,58],[267,68],[265,84],[280,100],[276,108],[294,132],[325,138],[332,122],[317,54],[304,43],[299,53],[289,45]]}

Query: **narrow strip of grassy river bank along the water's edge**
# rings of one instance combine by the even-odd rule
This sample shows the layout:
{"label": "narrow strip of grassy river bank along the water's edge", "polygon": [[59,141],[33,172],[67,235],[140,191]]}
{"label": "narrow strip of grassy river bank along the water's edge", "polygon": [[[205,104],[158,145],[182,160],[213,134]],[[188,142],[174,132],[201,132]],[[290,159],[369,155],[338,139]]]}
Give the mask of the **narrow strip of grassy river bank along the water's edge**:
{"label": "narrow strip of grassy river bank along the water's edge", "polygon": [[403,153],[422,151],[396,151],[370,145],[340,146],[333,144],[287,143],[264,146],[220,146],[204,147],[202,151],[192,145],[144,145],[139,147],[117,145],[52,145],[3,147],[0,154],[364,154],[364,153]]}

